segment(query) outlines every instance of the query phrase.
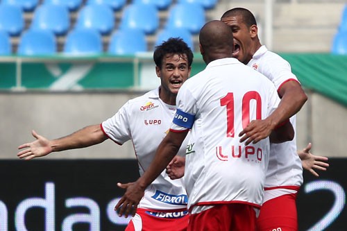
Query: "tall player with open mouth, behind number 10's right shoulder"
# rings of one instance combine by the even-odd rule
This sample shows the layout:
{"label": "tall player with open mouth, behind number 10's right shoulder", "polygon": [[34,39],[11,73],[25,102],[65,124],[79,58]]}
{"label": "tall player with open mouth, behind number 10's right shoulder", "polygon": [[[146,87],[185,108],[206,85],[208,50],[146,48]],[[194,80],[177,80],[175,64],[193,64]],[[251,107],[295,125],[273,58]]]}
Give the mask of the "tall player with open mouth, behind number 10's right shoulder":
{"label": "tall player with open mouth, behind number 10's right shoulder", "polygon": [[[257,36],[257,22],[249,10],[233,8],[223,14],[221,21],[232,29],[235,42],[233,57],[264,74],[273,82],[281,98],[280,105],[285,109],[282,113],[293,116],[290,121],[295,128],[295,114],[304,105],[307,96],[296,76],[291,73],[289,63],[260,44]],[[313,168],[325,170],[328,164],[324,161],[328,159],[316,157],[318,163],[315,165],[309,151],[310,144],[300,153],[304,160],[311,157],[307,166],[309,170],[313,174],[315,173]],[[303,165],[305,166],[305,163]],[[301,160],[296,153],[295,139],[270,145],[264,204],[257,219],[258,230],[298,230],[296,195],[303,183],[302,171]]]}

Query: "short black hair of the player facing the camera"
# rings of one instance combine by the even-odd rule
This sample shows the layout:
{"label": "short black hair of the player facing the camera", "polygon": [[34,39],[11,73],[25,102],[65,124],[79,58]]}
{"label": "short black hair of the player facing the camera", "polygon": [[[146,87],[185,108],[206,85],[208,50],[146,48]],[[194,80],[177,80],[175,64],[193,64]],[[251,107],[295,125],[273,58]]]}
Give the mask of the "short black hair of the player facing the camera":
{"label": "short black hair of the player facing the camera", "polygon": [[162,67],[162,60],[167,54],[187,55],[188,66],[192,66],[193,52],[187,43],[180,37],[170,37],[167,41],[162,42],[159,46],[155,46],[153,60],[157,67]]}

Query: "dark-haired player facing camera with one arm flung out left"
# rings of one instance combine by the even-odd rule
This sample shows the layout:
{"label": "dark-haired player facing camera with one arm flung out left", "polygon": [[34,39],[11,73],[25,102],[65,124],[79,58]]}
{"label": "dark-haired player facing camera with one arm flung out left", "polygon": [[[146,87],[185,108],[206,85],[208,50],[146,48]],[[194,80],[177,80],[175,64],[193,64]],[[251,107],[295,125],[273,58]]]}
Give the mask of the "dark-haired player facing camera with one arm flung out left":
{"label": "dark-haired player facing camera with one arm flung out left", "polygon": [[[49,140],[33,131],[36,140],[19,146],[19,149],[26,148],[17,154],[19,158],[31,160],[56,151],[92,146],[106,139],[121,145],[131,139],[142,175],[170,128],[178,89],[190,75],[193,53],[183,40],[170,38],[156,47],[153,59],[160,87],[128,101],[103,123],[87,126],[67,137]],[[178,155],[185,155],[186,146],[187,142],[183,142]],[[187,223],[183,180],[170,180],[162,172],[146,188],[137,214],[126,230],[186,230]]]}

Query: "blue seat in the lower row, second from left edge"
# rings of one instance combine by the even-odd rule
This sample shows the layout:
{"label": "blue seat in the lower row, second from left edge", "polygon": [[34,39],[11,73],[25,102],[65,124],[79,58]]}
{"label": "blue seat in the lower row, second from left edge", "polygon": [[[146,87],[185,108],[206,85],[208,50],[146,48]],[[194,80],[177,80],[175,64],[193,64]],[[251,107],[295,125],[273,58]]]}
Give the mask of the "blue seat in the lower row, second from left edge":
{"label": "blue seat in the lower row, second from left edge", "polygon": [[56,37],[52,31],[29,30],[23,33],[19,41],[19,55],[54,55]]}

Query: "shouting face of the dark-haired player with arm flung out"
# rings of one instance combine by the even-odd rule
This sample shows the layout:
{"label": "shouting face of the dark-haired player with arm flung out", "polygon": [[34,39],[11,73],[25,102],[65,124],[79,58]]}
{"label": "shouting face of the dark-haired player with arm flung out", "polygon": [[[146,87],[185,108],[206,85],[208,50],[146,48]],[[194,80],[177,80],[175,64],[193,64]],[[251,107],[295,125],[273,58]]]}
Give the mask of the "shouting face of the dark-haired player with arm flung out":
{"label": "shouting face of the dark-haired player with arm flung out", "polygon": [[155,67],[160,77],[162,89],[169,94],[177,94],[178,89],[190,76],[191,67],[188,65],[187,55],[168,54],[162,60],[162,67]]}

